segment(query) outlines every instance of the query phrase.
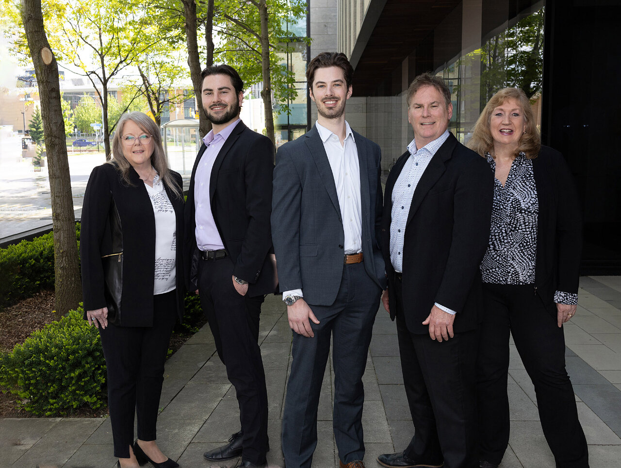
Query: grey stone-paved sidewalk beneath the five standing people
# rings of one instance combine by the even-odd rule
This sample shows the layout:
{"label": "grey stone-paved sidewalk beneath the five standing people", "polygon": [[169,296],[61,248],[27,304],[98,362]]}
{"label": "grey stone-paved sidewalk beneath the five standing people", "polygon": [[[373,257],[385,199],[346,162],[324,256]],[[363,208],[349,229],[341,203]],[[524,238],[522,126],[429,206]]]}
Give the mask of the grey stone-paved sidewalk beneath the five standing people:
{"label": "grey stone-paved sidewalk beneath the five standing people", "polygon": [[[583,277],[578,313],[566,324],[566,362],[592,467],[621,460],[621,277]],[[268,296],[261,313],[261,351],[270,402],[270,467],[282,467],[280,427],[291,361],[291,330],[278,296]],[[330,366],[331,369],[331,366]],[[553,468],[538,421],[535,395],[512,346],[509,398],[512,429],[503,468]],[[402,385],[396,329],[379,309],[364,377],[366,466],[378,454],[401,451],[414,427]],[[319,443],[314,468],[338,467],[332,436],[333,377],[326,372],[319,402]],[[158,419],[158,443],[182,467],[210,467],[202,453],[227,442],[239,429],[235,391],[205,326],[166,362]],[[112,468],[112,434],[107,418],[0,420],[0,467],[37,464]],[[236,460],[219,466],[235,466]]]}

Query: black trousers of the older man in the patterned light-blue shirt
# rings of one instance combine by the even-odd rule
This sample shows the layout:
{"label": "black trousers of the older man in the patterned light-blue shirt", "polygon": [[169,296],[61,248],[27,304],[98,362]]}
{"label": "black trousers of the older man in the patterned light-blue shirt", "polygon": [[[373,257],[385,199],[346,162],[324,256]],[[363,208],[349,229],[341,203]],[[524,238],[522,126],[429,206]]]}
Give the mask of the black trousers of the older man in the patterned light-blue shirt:
{"label": "black trousers of the older man in the patterned light-blue shirt", "polygon": [[[401,282],[395,285],[401,370],[415,434],[405,452],[421,464],[478,467],[476,454],[476,348],[478,332],[448,341],[407,329]],[[431,311],[431,309],[429,310]]]}

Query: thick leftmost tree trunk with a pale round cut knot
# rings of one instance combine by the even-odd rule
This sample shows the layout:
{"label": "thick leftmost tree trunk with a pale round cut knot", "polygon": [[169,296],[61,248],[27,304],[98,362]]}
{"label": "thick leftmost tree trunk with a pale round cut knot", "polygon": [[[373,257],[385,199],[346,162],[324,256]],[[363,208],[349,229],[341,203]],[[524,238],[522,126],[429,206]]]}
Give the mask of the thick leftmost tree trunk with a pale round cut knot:
{"label": "thick leftmost tree trunk with a pale round cut knot", "polygon": [[50,174],[54,230],[55,318],[78,306],[82,298],[78,244],[69,161],[65,144],[65,122],[58,85],[58,63],[43,29],[41,0],[22,0],[22,20],[28,48],[37,75],[45,149]]}

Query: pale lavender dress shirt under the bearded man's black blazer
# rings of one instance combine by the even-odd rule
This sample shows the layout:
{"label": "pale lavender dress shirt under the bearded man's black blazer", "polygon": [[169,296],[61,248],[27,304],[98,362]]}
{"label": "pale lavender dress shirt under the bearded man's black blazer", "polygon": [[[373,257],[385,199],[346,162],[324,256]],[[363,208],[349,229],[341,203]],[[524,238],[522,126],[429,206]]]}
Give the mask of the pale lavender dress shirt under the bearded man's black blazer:
{"label": "pale lavender dress shirt under the bearded man's black blazer", "polygon": [[202,154],[201,162],[199,162],[196,175],[194,175],[194,221],[196,221],[194,234],[196,234],[196,245],[201,250],[224,249],[224,243],[220,238],[217,226],[215,226],[214,214],[211,212],[209,181],[211,180],[211,170],[214,167],[215,158],[240,121],[241,119],[237,119],[215,135],[214,131],[210,130],[202,139],[207,149]]}

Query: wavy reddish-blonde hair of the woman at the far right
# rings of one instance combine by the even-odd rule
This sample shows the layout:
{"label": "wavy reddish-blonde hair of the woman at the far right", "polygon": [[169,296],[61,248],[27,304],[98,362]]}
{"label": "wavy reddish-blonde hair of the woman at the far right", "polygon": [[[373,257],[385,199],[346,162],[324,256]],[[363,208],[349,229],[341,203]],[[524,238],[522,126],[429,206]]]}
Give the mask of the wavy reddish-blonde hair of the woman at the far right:
{"label": "wavy reddish-blonde hair of the woman at the far right", "polygon": [[528,159],[536,158],[542,146],[541,136],[535,124],[535,115],[533,114],[533,109],[530,108],[530,101],[528,101],[526,94],[520,88],[501,89],[487,101],[483,112],[481,112],[476,124],[474,124],[472,138],[466,146],[483,157],[486,157],[487,153],[491,154],[492,157],[494,156],[494,139],[489,131],[489,122],[494,109],[502,106],[509,99],[515,99],[520,104],[526,123],[526,131],[520,137],[517,150],[515,150],[515,156],[523,152]]}

